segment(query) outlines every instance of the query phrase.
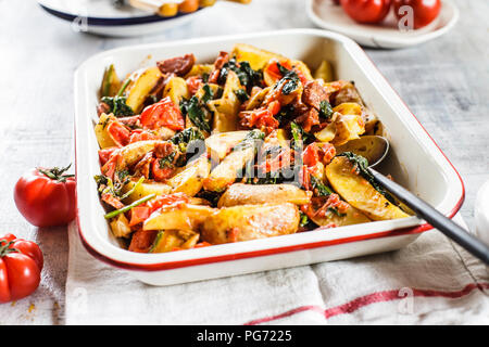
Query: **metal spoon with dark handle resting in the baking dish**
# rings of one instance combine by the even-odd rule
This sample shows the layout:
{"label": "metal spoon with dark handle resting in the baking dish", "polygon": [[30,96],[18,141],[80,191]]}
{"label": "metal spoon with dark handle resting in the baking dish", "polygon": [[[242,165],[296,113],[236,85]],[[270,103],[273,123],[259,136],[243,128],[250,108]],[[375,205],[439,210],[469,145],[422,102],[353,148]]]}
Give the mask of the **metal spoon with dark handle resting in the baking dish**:
{"label": "metal spoon with dark handle resting in the baking dish", "polygon": [[446,236],[452,239],[472,255],[482,260],[486,265],[489,265],[488,245],[468,233],[459,224],[454,223],[451,219],[440,214],[425,201],[372,168],[378,165],[387,156],[388,151],[389,141],[386,138],[378,136],[365,136],[337,147],[337,153],[353,152],[364,156],[368,163],[372,163],[372,165],[368,165],[367,169],[379,185],[411,208],[418,217],[441,231]]}

